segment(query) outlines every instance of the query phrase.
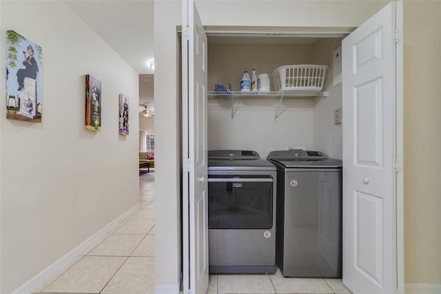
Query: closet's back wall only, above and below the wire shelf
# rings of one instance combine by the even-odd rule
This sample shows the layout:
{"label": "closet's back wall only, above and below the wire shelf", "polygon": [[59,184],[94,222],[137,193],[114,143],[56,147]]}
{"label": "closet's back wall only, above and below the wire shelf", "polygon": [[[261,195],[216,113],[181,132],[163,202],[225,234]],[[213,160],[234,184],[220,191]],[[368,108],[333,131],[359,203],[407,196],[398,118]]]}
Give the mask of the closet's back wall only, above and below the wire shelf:
{"label": "closet's back wall only, above and below the wire shelf", "polygon": [[[257,75],[266,72],[271,77],[279,66],[310,64],[314,60],[312,48],[313,45],[211,43],[208,88],[214,90],[214,84],[232,84],[232,90],[238,91],[244,70],[251,77],[254,67]],[[271,87],[276,90],[272,83]],[[232,119],[231,97],[210,97],[208,149],[256,150],[260,157],[266,158],[271,150],[285,150],[287,146],[313,148],[314,97],[285,97],[274,120],[279,101],[280,97],[236,97]]]}

